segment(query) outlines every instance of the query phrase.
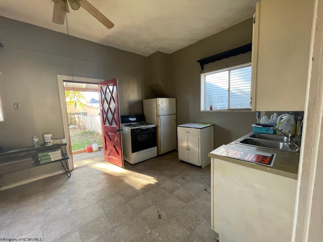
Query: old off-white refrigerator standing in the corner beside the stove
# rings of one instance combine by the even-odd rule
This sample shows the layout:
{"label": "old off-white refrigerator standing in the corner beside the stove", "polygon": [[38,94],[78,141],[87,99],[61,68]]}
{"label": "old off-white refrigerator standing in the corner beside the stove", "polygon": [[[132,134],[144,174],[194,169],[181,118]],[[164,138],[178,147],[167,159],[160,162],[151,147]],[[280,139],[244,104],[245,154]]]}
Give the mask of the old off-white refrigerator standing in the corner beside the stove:
{"label": "old off-white refrigerator standing in the corner beside the stove", "polygon": [[143,100],[146,122],[157,129],[158,155],[177,148],[176,98],[152,98]]}

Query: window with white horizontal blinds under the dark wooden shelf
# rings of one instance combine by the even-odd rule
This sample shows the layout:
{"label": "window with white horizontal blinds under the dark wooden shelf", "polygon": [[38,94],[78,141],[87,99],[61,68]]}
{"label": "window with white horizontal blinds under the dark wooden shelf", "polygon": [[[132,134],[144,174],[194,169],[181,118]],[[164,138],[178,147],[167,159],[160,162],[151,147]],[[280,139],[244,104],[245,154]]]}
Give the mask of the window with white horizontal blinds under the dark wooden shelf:
{"label": "window with white horizontal blinds under the dark wooden shelf", "polygon": [[201,74],[201,111],[250,109],[250,85],[251,63]]}

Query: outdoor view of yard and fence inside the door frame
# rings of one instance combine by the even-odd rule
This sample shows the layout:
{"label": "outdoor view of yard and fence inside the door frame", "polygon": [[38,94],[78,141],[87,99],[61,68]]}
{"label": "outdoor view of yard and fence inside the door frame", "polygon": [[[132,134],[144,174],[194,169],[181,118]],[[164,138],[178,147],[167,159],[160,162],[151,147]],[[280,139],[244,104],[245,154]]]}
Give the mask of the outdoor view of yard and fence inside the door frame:
{"label": "outdoor view of yard and fence inside the door frame", "polygon": [[97,84],[64,81],[74,168],[102,161]]}

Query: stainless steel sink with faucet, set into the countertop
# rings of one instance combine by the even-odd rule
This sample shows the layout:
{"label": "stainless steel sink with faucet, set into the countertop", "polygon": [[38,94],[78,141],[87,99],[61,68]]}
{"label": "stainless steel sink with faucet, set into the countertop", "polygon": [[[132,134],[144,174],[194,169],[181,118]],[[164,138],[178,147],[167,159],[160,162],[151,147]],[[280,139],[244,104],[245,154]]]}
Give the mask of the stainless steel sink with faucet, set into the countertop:
{"label": "stainless steel sink with faucet, set into the countertop", "polygon": [[252,132],[238,139],[235,143],[293,153],[299,152],[299,149],[294,145],[288,147],[288,138],[280,135]]}

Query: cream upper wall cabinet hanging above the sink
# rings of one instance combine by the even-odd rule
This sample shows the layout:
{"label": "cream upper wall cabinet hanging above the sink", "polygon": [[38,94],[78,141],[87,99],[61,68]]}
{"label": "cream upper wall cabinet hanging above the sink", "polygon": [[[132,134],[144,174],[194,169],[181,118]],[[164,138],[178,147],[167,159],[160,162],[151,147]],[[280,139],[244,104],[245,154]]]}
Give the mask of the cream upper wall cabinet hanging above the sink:
{"label": "cream upper wall cabinet hanging above the sink", "polygon": [[252,110],[304,110],[313,2],[262,0],[256,3],[252,36]]}

